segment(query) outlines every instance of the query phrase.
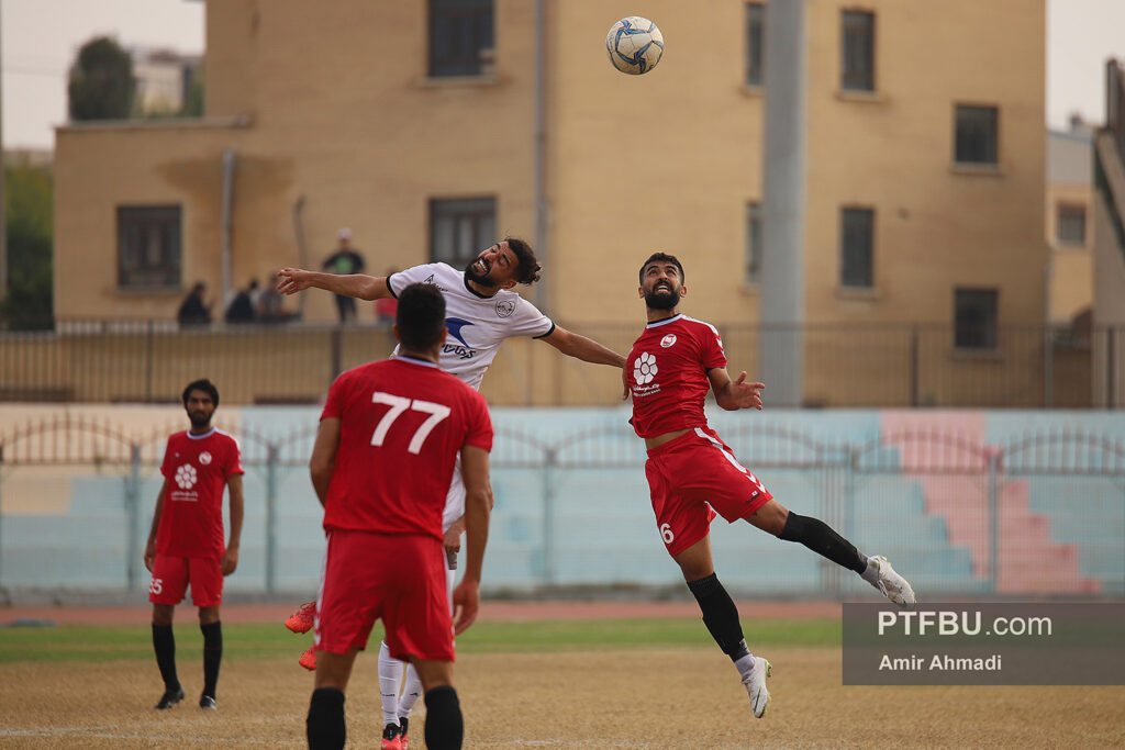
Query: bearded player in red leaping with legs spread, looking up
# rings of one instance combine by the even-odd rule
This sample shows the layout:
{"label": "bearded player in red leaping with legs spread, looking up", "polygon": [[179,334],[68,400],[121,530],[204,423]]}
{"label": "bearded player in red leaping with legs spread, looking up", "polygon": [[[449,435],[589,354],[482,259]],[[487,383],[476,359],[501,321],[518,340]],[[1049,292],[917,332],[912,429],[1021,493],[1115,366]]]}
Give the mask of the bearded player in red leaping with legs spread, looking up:
{"label": "bearded player in red leaping with legs spread, looking up", "polygon": [[[863,554],[822,521],[786,510],[708,427],[708,389],[728,412],[762,408],[760,382],[727,373],[722,340],[713,326],[682,315],[687,295],[684,268],[674,255],[655,253],[640,269],[640,297],[648,326],[626,360],[623,378],[632,395],[630,423],[648,449],[645,473],[652,509],[668,554],[680,566],[703,612],[703,624],[735,662],[760,719],[770,705],[771,665],[750,653],[738,608],[714,575],[710,525],[716,515],[742,518],[788,542],[800,542],[860,573],[894,604],[912,608],[915,594],[886,558]],[[718,513],[717,513],[718,512]]]}

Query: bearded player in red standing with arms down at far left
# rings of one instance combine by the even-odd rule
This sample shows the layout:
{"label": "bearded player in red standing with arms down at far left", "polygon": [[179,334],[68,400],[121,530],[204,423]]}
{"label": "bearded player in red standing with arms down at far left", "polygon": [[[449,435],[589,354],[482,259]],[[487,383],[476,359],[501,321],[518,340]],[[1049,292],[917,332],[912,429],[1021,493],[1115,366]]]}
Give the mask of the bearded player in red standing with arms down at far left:
{"label": "bearded player in red standing with arms down at far left", "polygon": [[[238,566],[242,535],[242,457],[238,443],[212,426],[218,408],[218,389],[210,380],[196,380],[183,389],[183,408],[191,428],[168,439],[164,486],[156,498],[144,564],[152,571],[152,645],[164,679],[163,711],[183,699],[176,674],[172,614],[191,585],[191,603],[199,607],[204,633],[204,690],[199,707],[214,711],[215,685],[223,660],[223,577]],[[231,541],[223,544],[223,488],[231,488]]]}

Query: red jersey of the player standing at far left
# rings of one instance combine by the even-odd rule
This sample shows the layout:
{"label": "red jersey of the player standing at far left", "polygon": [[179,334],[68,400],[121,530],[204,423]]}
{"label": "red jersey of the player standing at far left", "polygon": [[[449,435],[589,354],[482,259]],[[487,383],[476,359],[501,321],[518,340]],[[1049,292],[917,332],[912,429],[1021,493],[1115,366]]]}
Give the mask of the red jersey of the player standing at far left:
{"label": "red jersey of the player standing at far left", "polygon": [[202,435],[178,432],[168,439],[160,472],[168,495],[156,530],[156,553],[182,558],[218,558],[223,539],[223,490],[244,473],[238,443],[222,430]]}

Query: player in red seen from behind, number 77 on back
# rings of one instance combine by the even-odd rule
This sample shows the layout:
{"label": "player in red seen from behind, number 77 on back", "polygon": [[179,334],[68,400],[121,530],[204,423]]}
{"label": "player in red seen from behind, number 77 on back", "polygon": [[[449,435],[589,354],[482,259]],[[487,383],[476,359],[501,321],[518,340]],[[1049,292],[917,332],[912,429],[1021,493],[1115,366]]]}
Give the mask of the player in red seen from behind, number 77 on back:
{"label": "player in red seen from behind, number 77 on back", "polygon": [[426,747],[460,748],[464,737],[452,685],[442,510],[460,455],[468,542],[465,577],[453,591],[460,633],[479,603],[492,422],[484,397],[438,367],[446,300],[436,287],[403,289],[394,333],[396,356],[332,383],[309,460],[328,536],[306,722],[313,750],[344,747],[344,690],[376,620],[390,656],[414,665],[422,680]]}

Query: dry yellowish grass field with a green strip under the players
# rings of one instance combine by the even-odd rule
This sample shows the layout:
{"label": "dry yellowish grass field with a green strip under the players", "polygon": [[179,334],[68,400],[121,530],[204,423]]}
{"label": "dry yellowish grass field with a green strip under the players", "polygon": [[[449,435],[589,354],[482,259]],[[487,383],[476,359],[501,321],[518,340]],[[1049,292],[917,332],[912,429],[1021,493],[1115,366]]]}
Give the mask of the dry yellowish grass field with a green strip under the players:
{"label": "dry yellowish grass field with a green strip under the players", "polygon": [[[698,618],[480,622],[458,640],[466,747],[1125,747],[1125,688],[843,687],[838,621],[746,625],[774,665],[760,721]],[[189,701],[158,713],[147,626],[0,630],[0,747],[304,747],[312,677],[296,658],[308,635],[225,625],[219,711],[209,713],[192,699],[199,630],[184,620],[176,634]],[[1048,656],[1045,669],[1063,668]],[[375,656],[361,654],[349,747],[378,747],[378,693]]]}

